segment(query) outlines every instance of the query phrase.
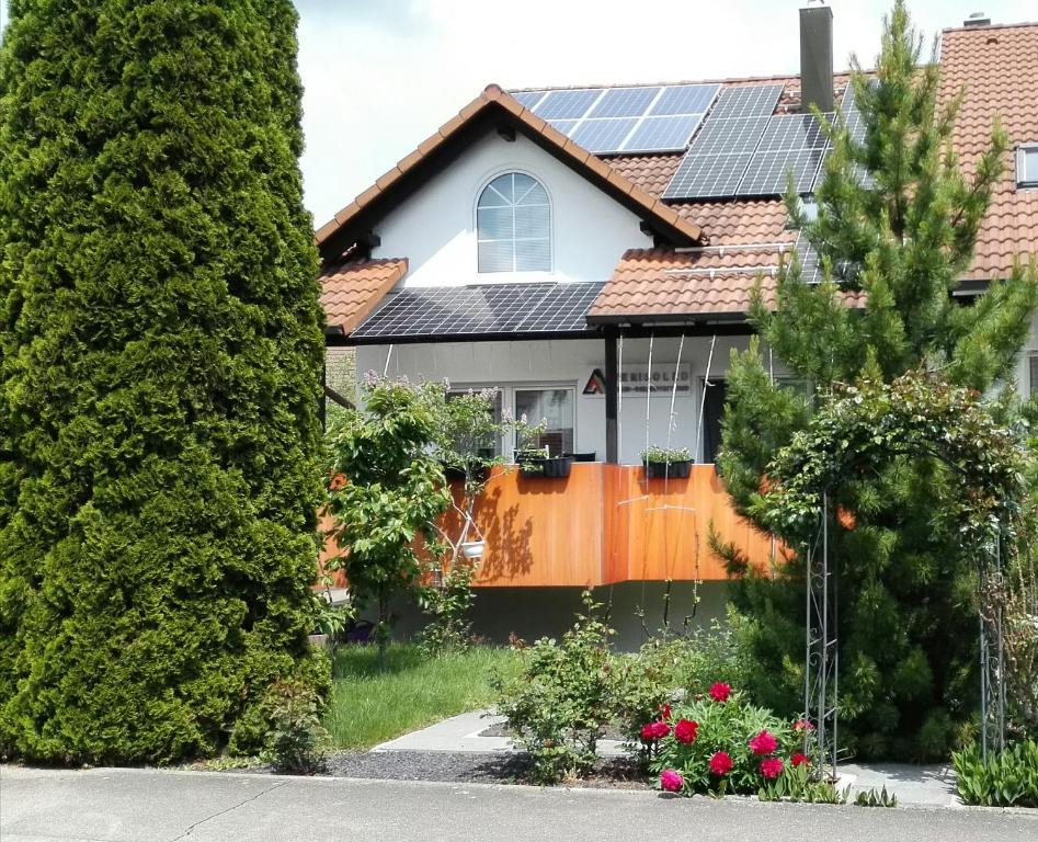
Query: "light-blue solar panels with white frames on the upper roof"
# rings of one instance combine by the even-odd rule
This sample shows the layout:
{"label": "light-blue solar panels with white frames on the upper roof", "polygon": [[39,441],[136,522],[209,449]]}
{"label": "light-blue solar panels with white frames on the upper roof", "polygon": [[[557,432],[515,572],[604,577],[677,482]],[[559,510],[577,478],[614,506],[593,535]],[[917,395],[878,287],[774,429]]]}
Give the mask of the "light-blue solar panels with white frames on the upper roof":
{"label": "light-blue solar panels with white frames on the upper roof", "polygon": [[596,155],[682,151],[719,84],[517,91],[512,94]]}

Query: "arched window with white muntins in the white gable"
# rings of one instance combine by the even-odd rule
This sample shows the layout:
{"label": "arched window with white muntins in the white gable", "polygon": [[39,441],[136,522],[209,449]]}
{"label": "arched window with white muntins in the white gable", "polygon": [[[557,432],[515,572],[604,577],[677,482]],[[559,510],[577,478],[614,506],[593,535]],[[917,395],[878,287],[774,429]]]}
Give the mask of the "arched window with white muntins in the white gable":
{"label": "arched window with white muntins in the white gable", "polygon": [[533,177],[506,172],[483,187],[476,232],[480,272],[551,271],[551,207]]}

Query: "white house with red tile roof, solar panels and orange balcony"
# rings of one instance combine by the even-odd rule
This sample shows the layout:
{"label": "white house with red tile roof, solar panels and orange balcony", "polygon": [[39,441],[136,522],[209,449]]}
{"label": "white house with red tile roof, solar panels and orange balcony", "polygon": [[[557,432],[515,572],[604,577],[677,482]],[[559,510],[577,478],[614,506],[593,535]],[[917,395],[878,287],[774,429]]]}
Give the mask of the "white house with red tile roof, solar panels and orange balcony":
{"label": "white house with red tile roof, solar panels and orange balcony", "polygon": [[[811,276],[780,197],[790,175],[809,197],[821,171],[811,105],[856,115],[848,76],[833,72],[830,9],[800,15],[800,76],[491,84],[318,229],[328,345],[355,348],[358,373],[497,387],[495,411],[545,420],[539,445],[578,454],[562,481],[492,481],[480,585],[514,599],[720,580],[710,527],[755,562],[774,550],[731,513],[711,463],[751,291],[766,298],[795,253]],[[963,170],[996,116],[1012,145],[969,295],[1038,253],[1038,24],[971,19],[944,31],[939,61],[942,99],[962,92]],[[1036,337],[1025,392],[1038,388]],[[651,446],[687,448],[692,476],[647,480]]]}

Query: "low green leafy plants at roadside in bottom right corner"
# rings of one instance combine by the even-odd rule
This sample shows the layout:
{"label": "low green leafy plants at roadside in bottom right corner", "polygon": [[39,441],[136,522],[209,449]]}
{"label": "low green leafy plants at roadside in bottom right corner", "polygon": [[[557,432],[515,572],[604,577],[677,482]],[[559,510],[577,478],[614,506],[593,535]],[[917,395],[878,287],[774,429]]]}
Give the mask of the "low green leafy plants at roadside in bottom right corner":
{"label": "low green leafy plants at roadside in bottom right corner", "polygon": [[951,754],[955,783],[967,804],[982,807],[1038,807],[1038,742],[1025,740],[985,763],[974,743]]}

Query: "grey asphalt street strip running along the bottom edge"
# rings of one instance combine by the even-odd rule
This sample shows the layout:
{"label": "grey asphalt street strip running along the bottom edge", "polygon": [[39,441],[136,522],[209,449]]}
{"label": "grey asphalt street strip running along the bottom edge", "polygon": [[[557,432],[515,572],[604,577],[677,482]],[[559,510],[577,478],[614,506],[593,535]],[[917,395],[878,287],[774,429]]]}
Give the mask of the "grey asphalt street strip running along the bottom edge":
{"label": "grey asphalt street strip running along the bottom edge", "polygon": [[865,809],[652,792],[0,766],[3,842],[1035,842],[1038,811]]}

